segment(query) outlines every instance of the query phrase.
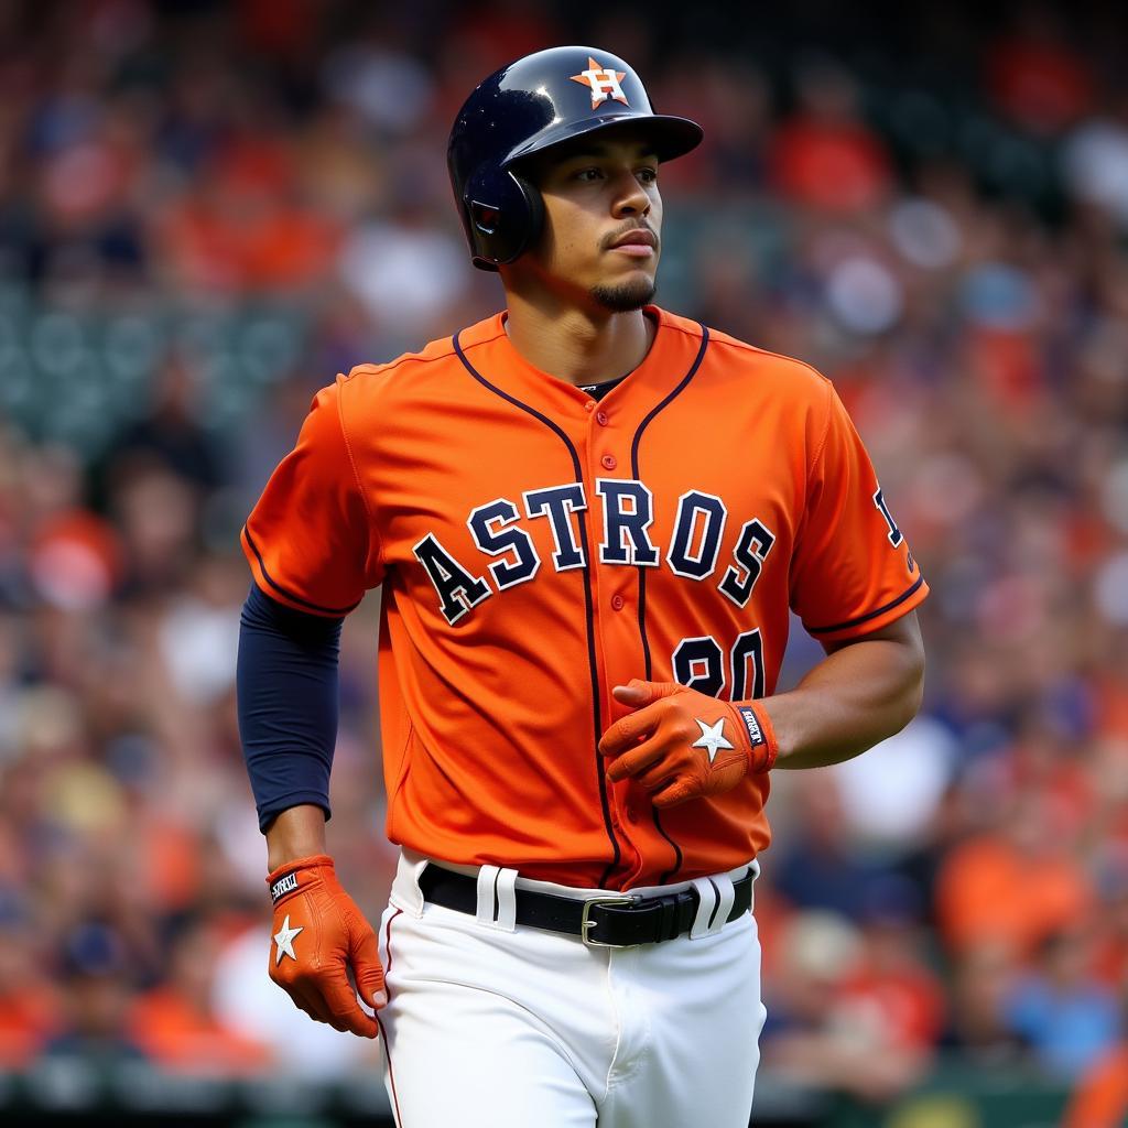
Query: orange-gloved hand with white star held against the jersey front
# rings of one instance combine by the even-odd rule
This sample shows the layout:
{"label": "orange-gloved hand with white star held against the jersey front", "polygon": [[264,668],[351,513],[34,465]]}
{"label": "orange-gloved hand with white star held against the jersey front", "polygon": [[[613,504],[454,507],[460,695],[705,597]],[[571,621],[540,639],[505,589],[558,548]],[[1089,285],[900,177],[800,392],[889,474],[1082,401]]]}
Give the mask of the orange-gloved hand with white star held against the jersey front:
{"label": "orange-gloved hand with white star held against the jersey front", "polygon": [[613,783],[633,777],[655,807],[731,791],[749,772],[767,772],[777,746],[757,702],[722,702],[675,681],[632,678],[611,693],[635,712],[599,742]]}

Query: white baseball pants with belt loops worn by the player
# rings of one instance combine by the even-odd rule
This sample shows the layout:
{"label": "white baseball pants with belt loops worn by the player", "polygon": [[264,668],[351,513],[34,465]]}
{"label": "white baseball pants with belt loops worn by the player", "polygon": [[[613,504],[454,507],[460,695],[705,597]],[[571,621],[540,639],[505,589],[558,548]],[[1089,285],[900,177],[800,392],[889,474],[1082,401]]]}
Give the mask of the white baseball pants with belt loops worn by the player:
{"label": "white baseball pants with belt loops worn by the player", "polygon": [[[424,904],[425,865],[400,858],[380,925],[385,1084],[399,1128],[747,1128],[766,1016],[750,913],[710,929],[716,893],[703,880],[690,934],[588,948],[513,926],[513,890],[597,890],[485,866],[475,918]],[[747,869],[712,878],[729,904]]]}

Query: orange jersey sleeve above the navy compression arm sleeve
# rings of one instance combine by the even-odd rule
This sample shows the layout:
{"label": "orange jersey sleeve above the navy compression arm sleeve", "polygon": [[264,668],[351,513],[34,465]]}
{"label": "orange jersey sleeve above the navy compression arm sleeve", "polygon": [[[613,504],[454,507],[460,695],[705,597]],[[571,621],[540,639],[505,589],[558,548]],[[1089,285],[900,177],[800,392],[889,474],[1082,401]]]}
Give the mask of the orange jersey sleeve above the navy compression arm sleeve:
{"label": "orange jersey sleeve above the navy compression arm sleeve", "polygon": [[384,579],[372,515],[345,437],[345,382],[314,398],[298,443],[271,475],[243,550],[258,587],[299,611],[338,617]]}

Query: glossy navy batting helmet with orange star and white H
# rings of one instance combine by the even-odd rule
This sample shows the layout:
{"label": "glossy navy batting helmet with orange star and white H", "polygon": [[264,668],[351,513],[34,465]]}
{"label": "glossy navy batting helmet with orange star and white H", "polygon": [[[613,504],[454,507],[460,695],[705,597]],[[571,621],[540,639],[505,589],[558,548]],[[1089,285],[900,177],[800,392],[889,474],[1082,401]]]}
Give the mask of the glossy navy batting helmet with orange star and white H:
{"label": "glossy navy batting helmet with orange star and white H", "polygon": [[491,74],[466,99],[450,131],[447,165],[474,265],[497,270],[536,240],[540,193],[521,161],[563,141],[641,124],[659,160],[702,139],[687,117],[655,114],[638,76],[597,47],[550,47]]}

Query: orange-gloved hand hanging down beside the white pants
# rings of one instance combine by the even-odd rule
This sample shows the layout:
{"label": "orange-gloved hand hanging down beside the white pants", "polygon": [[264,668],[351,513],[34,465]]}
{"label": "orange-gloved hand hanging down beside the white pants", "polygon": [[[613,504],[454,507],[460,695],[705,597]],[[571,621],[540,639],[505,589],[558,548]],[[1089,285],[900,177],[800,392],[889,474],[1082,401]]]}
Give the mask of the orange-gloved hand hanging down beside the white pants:
{"label": "orange-gloved hand hanging down beside the white pants", "polygon": [[387,1003],[376,933],[341,888],[333,858],[315,854],[287,862],[266,884],[274,901],[271,979],[311,1019],[376,1038],[380,1028],[360,1005]]}

